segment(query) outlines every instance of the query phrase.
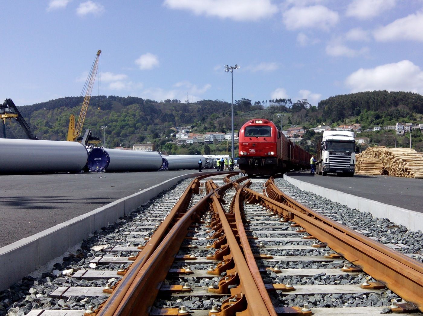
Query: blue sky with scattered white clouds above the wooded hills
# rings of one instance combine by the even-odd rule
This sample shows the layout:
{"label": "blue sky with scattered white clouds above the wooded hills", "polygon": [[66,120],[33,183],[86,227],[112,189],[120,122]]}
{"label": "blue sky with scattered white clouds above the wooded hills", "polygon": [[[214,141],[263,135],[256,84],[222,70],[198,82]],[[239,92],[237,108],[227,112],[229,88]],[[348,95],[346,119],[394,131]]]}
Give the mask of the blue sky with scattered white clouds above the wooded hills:
{"label": "blue sky with scattered white clouds above the wooded hills", "polygon": [[[79,96],[101,49],[101,94],[312,105],[423,94],[422,0],[2,0],[0,101]],[[98,94],[98,77],[92,95]]]}

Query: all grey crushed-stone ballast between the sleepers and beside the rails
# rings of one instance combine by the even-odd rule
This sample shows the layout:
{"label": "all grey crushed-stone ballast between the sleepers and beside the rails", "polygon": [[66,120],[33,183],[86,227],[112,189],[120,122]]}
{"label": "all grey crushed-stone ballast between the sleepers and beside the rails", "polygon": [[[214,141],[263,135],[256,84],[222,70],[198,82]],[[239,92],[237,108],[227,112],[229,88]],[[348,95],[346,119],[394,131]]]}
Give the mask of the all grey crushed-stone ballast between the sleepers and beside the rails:
{"label": "all grey crushed-stone ballast between the sleepers and beside the rails", "polygon": [[[370,213],[361,213],[358,210],[352,210],[347,208],[345,205],[334,203],[323,197],[319,197],[316,194],[310,192],[302,192],[296,186],[289,184],[283,179],[275,179],[277,186],[282,190],[288,190],[289,195],[295,195],[297,199],[301,199],[302,203],[309,208],[322,210],[323,214],[331,217],[335,221],[339,221],[341,224],[348,225],[354,230],[366,231],[364,235],[379,239],[378,241],[387,245],[395,244],[401,245],[398,251],[413,254],[423,252],[423,234],[422,232],[412,232],[407,230],[402,225],[397,225],[388,219],[373,219]],[[104,228],[101,232],[97,232],[96,235],[83,240],[80,249],[74,251],[73,254],[63,258],[63,262],[57,262],[50,271],[40,273],[39,275],[27,276],[18,282],[10,289],[0,293],[0,315],[8,316],[24,316],[33,308],[38,309],[79,309],[85,310],[89,306],[98,306],[103,302],[107,296],[101,297],[85,297],[81,295],[79,297],[70,297],[67,300],[48,297],[47,294],[53,292],[59,286],[89,286],[89,287],[104,287],[107,283],[111,283],[113,286],[118,278],[110,278],[108,280],[77,280],[71,278],[70,275],[81,267],[90,268],[95,270],[118,270],[124,269],[129,264],[109,264],[109,265],[95,265],[90,264],[94,257],[101,255],[107,255],[102,250],[92,250],[94,246],[107,246],[116,240],[120,246],[138,246],[137,241],[126,241],[124,232],[129,227],[143,226],[143,224],[134,225],[133,221],[148,221],[147,217],[165,217],[169,208],[161,207],[161,201],[164,199],[171,200],[174,195],[173,190],[177,188],[185,188],[190,183],[189,180],[182,181],[175,188],[168,190],[160,194],[155,199],[151,200],[146,205],[141,206],[136,212],[130,216],[122,218],[119,223],[113,224],[110,227]],[[258,192],[262,192],[263,184],[260,181],[253,181],[251,189]],[[230,201],[233,197],[234,192],[225,194],[224,198],[228,202],[224,205],[224,208],[228,210]],[[261,209],[260,207],[255,207]],[[261,209],[262,210],[262,209]],[[161,212],[161,213],[160,213]],[[159,214],[158,214],[159,213]],[[261,219],[257,216],[255,220],[258,221],[269,221],[269,218],[264,216]],[[266,224],[269,225],[269,224]],[[146,225],[148,226],[148,225]],[[139,229],[137,229],[139,231]],[[142,230],[142,229],[141,229]],[[270,230],[270,229],[266,229]],[[198,237],[204,238],[206,235],[203,233],[194,233]],[[292,236],[292,235],[291,235]],[[266,237],[266,236],[261,236]],[[270,237],[270,236],[269,236]],[[140,236],[136,238],[141,238]],[[205,246],[208,242],[213,243],[214,240],[195,240],[195,244],[198,246]],[[254,241],[251,241],[252,245],[255,245]],[[264,242],[266,246],[277,246],[288,244],[280,241],[269,241]],[[294,241],[289,242],[291,245],[307,245],[309,241]],[[116,243],[114,243],[116,245]],[[194,249],[191,249],[194,250]],[[266,251],[265,249],[253,248],[255,253],[271,253],[273,256],[286,256],[286,255],[322,255],[324,251],[321,249],[316,250],[278,250],[272,249]],[[209,251],[196,251],[197,255],[205,256]],[[129,256],[132,254],[130,251],[122,251],[114,253],[117,256]],[[182,253],[181,253],[182,254]],[[110,254],[109,254],[110,255]],[[416,259],[422,260],[420,257]],[[423,261],[423,260],[422,260]],[[322,273],[310,277],[299,277],[299,276],[283,276],[273,272],[262,273],[265,283],[283,283],[286,284],[290,281],[293,285],[324,285],[324,284],[360,284],[363,282],[365,275],[326,275],[324,273],[325,268],[334,268],[342,265],[344,261],[342,259],[335,260],[332,262],[314,262],[314,261],[297,261],[297,262],[275,262],[275,261],[258,261],[258,264],[262,267],[279,267],[280,269],[322,269]],[[190,268],[192,270],[207,270],[211,264],[192,264]],[[187,267],[187,263],[175,262],[173,267]],[[62,271],[71,271],[69,273],[63,273]],[[212,278],[196,278],[190,277],[189,275],[175,278],[172,281],[166,281],[165,284],[184,284],[187,282],[190,286],[209,286],[213,282],[218,282],[221,276]],[[189,294],[188,294],[189,295]],[[175,308],[181,305],[187,307],[188,311],[192,310],[210,310],[213,305],[220,306],[227,297],[209,298],[209,297],[194,297],[187,296],[183,300],[179,297],[172,297],[170,300],[157,300],[154,306],[157,308]],[[316,294],[316,295],[295,295],[295,294],[283,294],[280,291],[271,293],[272,301],[275,306],[302,306],[305,302],[310,307],[362,307],[362,306],[387,306],[392,298],[400,298],[390,290],[382,292],[382,294],[376,293],[358,293],[358,294]],[[386,310],[387,312],[388,310]]]}

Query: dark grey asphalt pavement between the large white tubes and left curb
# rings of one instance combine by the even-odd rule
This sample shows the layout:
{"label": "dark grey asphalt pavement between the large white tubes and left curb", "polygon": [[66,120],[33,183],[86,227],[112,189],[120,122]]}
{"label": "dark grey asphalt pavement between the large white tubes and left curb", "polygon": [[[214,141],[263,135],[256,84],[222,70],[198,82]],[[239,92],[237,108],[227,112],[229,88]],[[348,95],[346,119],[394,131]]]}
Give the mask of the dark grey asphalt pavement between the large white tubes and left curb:
{"label": "dark grey asphalt pavement between the large white tubes and left curb", "polygon": [[0,176],[0,247],[198,170]]}

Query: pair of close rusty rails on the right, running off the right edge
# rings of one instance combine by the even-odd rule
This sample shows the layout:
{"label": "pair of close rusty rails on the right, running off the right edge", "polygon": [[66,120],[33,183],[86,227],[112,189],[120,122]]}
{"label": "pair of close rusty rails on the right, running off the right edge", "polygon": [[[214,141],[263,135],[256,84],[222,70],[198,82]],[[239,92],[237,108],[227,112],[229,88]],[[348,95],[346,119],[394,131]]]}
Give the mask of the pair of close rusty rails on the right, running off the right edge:
{"label": "pair of close rusty rails on the right, running off the right edge", "polygon": [[365,273],[423,311],[422,263],[296,202],[283,194],[272,178],[266,182],[269,197],[247,188],[243,190],[250,200],[299,224],[308,234],[326,243],[346,260],[354,262]]}

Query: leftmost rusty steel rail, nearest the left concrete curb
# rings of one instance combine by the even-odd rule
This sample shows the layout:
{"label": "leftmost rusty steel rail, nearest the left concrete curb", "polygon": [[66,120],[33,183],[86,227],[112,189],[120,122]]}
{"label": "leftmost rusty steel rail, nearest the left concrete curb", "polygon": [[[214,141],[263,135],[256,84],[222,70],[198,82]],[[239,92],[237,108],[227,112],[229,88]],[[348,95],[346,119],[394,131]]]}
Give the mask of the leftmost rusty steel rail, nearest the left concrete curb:
{"label": "leftmost rusty steel rail, nearest the left concrete curb", "polygon": [[174,219],[176,218],[177,214],[179,214],[184,209],[184,207],[186,207],[188,203],[190,202],[192,192],[195,192],[198,194],[199,181],[209,176],[211,175],[205,174],[191,181],[190,185],[187,187],[184,194],[182,194],[179,201],[176,203],[175,206],[173,206],[172,210],[170,211],[170,214],[166,216],[165,220],[162,222],[162,224],[160,224],[160,226],[151,236],[151,239],[148,240],[148,243],[146,243],[143,250],[138,254],[134,263],[132,263],[132,265],[126,271],[123,278],[114,287],[110,297],[106,300],[106,302],[104,302],[104,304],[100,305],[99,308],[95,311],[96,316],[112,316],[115,313],[118,306],[121,304],[124,296],[128,292],[130,286],[132,285],[135,278],[137,277],[138,273],[140,273],[141,268],[143,267],[143,265],[145,265],[148,258],[151,257],[151,255],[159,246],[160,242],[165,237],[166,233],[170,230],[170,227]]}

